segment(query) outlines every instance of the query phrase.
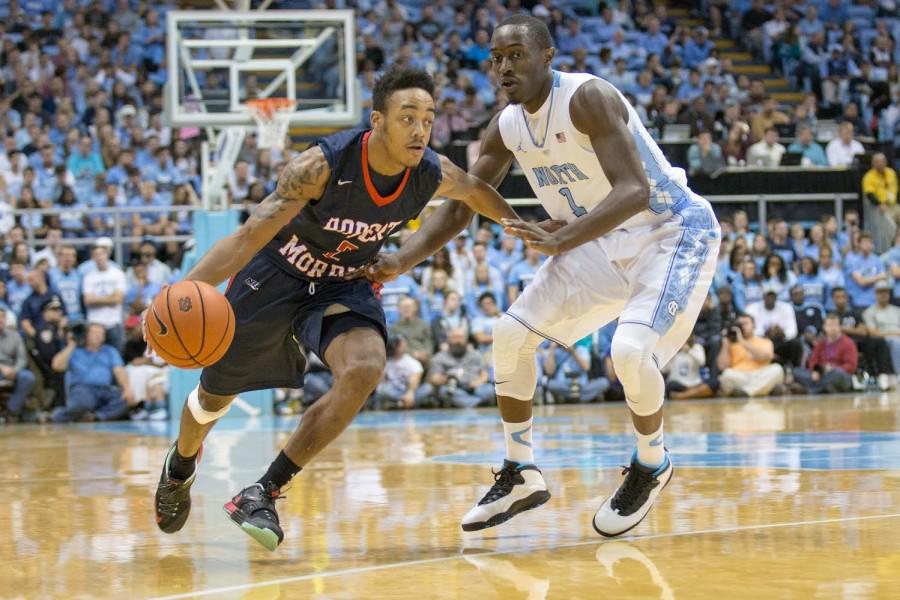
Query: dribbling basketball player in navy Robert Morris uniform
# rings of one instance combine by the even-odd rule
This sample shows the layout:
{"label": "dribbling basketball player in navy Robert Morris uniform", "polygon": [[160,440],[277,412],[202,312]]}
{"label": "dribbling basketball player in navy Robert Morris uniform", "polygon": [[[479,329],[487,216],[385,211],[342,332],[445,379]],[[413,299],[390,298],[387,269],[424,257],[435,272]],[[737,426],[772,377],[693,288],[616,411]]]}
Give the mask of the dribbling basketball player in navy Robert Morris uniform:
{"label": "dribbling basketball player in navy Robert Morris uniform", "polygon": [[303,152],[247,222],[187,274],[212,285],[231,278],[226,297],[237,325],[228,352],[203,369],[189,394],[166,454],[156,492],[156,520],[166,533],[187,520],[209,430],[241,392],[301,387],[305,347],[330,367],[331,390],[306,411],[268,471],[225,505],[234,523],[274,550],[283,539],[275,510],[281,488],[349,425],[384,371],[381,303],[366,279],[348,276],[435,196],[498,222],[515,217],[492,187],[428,148],[433,95],[423,71],[386,73],[373,90],[372,128],[326,137]]}

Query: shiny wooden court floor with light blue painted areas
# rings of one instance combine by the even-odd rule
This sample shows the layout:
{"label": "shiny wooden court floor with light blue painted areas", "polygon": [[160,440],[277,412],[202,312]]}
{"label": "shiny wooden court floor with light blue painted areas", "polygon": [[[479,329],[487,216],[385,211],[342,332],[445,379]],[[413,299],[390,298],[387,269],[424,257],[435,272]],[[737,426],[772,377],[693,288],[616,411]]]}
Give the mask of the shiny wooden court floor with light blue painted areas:
{"label": "shiny wooden court floor with light blue painted areas", "polygon": [[541,409],[553,498],[475,534],[494,411],[366,413],[287,491],[269,553],[222,504],[295,421],[220,423],[171,536],[151,501],[174,425],[0,429],[0,597],[900,598],[895,395],[670,404],[675,476],[612,541],[590,521],[630,454],[624,406]]}

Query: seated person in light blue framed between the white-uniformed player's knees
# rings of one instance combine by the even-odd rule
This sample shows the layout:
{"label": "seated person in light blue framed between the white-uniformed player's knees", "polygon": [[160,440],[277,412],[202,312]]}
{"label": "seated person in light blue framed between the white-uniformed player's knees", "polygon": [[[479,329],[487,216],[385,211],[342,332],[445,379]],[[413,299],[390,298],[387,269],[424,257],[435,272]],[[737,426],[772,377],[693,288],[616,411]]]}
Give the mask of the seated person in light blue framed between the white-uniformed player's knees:
{"label": "seated person in light blue framed between the white-uniformed player's knees", "polygon": [[546,342],[538,352],[538,360],[547,376],[547,391],[553,400],[562,402],[593,402],[609,389],[606,377],[589,379],[591,368],[591,338],[584,338],[566,348]]}

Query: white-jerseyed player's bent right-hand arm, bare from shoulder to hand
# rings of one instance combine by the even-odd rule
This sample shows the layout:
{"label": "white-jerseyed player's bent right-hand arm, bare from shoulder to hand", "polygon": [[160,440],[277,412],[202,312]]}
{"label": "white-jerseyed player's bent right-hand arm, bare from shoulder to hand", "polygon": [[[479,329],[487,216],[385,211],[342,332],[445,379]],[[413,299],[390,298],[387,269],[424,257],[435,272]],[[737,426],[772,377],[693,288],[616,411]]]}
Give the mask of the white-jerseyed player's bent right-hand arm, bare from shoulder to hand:
{"label": "white-jerseyed player's bent right-hand arm, bare from shoulder to hand", "polygon": [[650,204],[650,184],[628,130],[628,112],[610,84],[582,85],[569,107],[572,123],[587,135],[612,191],[587,215],[548,234],[527,223],[504,223],[507,232],[545,254],[559,254],[604,235]]}

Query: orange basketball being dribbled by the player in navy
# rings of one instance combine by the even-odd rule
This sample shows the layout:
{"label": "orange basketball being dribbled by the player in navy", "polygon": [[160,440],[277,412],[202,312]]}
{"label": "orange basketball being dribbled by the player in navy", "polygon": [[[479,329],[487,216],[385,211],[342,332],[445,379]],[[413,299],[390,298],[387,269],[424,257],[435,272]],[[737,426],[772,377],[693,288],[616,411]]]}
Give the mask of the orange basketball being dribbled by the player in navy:
{"label": "orange basketball being dribbled by the player in navy", "polygon": [[147,343],[173,367],[208,367],[228,351],[234,325],[234,311],[219,290],[202,281],[179,281],[153,299]]}

